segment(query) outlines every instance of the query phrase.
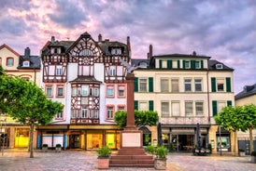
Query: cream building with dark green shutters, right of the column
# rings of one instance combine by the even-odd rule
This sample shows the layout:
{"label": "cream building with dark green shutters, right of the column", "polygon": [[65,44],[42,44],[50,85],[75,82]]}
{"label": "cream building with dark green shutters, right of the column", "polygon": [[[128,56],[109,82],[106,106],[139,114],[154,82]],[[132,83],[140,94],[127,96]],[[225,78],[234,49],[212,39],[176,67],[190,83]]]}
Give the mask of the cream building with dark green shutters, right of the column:
{"label": "cream building with dark green shutters, right of the column", "polygon": [[[132,59],[132,65],[140,66],[135,70],[135,109],[159,113],[166,147],[172,143],[175,151],[192,151],[199,124],[201,146],[211,144],[215,153],[235,151],[233,137],[214,121],[224,106],[235,104],[233,69],[195,52],[153,56],[152,46],[148,59]],[[150,138],[151,143],[157,140]]]}

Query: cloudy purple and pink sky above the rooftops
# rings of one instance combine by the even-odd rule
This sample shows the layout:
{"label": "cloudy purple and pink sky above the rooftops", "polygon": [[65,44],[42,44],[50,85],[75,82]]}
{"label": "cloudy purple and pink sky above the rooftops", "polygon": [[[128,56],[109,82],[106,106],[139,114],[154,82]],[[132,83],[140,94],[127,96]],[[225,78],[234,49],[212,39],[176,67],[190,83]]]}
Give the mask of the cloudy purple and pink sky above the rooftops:
{"label": "cloudy purple and pink sky above the rooftops", "polygon": [[40,55],[52,35],[130,36],[132,59],[146,59],[149,45],[153,55],[195,51],[235,70],[235,94],[256,84],[255,0],[0,0],[0,10],[0,46],[20,55]]}

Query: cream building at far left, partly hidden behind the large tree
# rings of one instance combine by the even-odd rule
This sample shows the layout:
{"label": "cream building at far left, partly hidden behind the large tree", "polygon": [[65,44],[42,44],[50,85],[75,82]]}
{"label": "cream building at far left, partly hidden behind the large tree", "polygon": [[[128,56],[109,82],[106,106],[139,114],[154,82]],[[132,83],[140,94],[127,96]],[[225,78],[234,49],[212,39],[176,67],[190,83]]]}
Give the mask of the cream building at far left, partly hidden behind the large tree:
{"label": "cream building at far left, partly hidden behind the large tree", "polygon": [[[39,85],[40,58],[31,55],[29,47],[24,49],[24,55],[20,55],[5,44],[0,46],[0,65],[7,75],[20,76]],[[29,126],[15,122],[7,113],[0,113],[1,144],[7,148],[28,147]]]}

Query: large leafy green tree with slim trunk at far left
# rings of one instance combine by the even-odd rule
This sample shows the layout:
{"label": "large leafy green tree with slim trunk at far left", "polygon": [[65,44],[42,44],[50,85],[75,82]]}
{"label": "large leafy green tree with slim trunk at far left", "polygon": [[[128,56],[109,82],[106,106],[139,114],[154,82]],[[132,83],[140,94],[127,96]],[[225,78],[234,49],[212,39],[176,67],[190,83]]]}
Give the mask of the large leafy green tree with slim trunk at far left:
{"label": "large leafy green tree with slim trunk at far left", "polygon": [[30,126],[29,151],[34,157],[35,125],[47,125],[63,111],[63,104],[47,99],[35,83],[20,77],[0,76],[0,109],[22,125]]}

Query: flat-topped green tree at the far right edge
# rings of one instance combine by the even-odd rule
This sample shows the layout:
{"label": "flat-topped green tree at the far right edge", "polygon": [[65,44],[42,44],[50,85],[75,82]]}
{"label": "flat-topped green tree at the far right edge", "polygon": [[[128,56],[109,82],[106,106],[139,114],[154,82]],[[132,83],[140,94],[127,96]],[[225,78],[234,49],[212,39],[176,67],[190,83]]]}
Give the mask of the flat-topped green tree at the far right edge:
{"label": "flat-topped green tree at the far right edge", "polygon": [[228,131],[249,130],[250,151],[253,151],[252,130],[256,128],[256,106],[253,104],[244,106],[228,106],[215,116],[217,125],[221,125]]}

